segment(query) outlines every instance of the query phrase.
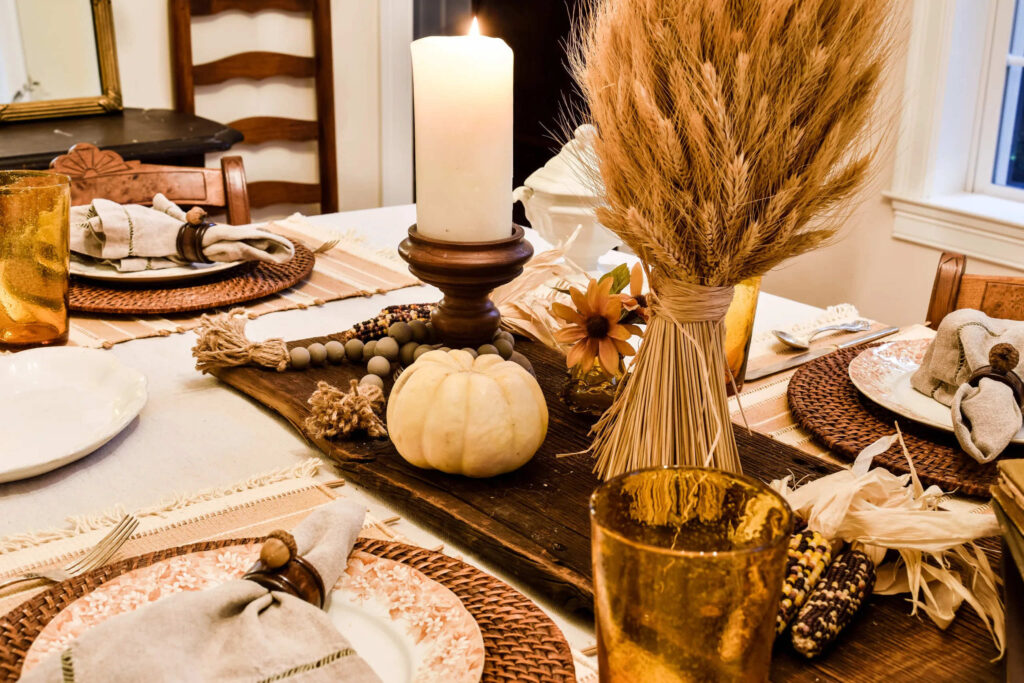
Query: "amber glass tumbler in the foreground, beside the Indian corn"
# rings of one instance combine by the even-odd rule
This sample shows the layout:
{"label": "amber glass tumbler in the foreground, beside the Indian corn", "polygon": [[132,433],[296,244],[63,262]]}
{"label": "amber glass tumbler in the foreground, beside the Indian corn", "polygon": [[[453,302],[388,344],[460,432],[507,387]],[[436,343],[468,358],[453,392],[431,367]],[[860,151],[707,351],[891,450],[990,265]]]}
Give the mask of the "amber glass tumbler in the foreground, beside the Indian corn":
{"label": "amber glass tumbler in the foreground, beside the Indian corn", "polygon": [[640,470],[591,497],[602,681],[767,681],[793,513],[768,486]]}

